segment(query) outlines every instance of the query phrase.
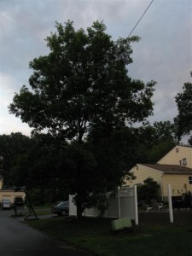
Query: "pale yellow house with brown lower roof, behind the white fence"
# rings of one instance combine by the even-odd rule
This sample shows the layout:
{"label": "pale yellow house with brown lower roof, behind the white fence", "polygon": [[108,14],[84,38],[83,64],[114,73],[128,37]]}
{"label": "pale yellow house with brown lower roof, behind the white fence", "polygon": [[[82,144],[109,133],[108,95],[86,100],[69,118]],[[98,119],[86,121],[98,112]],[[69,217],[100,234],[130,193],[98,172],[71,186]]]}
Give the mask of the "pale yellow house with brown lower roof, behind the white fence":
{"label": "pale yellow house with brown lower roof, behind the white fence", "polygon": [[146,178],[152,177],[160,184],[162,200],[167,199],[169,183],[172,196],[192,192],[192,148],[176,146],[156,164],[137,164],[130,172],[136,179],[125,181],[126,185],[142,184]]}

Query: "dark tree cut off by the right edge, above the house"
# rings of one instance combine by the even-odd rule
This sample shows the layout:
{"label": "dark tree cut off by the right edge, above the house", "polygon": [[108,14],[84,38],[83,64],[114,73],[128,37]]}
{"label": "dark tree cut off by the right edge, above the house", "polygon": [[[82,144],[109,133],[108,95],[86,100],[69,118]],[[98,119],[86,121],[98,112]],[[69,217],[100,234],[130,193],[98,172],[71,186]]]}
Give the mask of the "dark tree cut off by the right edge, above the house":
{"label": "dark tree cut off by the right edge, above the house", "polygon": [[183,84],[183,92],[178,93],[175,99],[178,115],[174,121],[177,125],[177,137],[180,139],[192,131],[192,84]]}

